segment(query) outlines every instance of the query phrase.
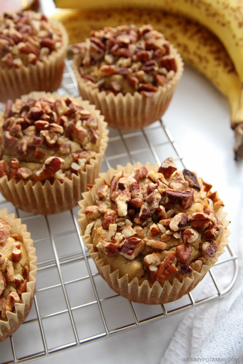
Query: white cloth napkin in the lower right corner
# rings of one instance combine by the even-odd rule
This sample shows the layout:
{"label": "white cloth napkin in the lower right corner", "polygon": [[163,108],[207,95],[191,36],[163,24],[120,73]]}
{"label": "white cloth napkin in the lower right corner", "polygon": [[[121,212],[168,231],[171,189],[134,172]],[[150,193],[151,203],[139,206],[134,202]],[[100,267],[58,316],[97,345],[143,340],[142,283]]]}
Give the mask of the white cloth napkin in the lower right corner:
{"label": "white cloth napkin in the lower right corner", "polygon": [[225,297],[185,315],[161,364],[192,363],[195,358],[200,358],[197,363],[216,363],[217,358],[226,363],[243,363],[243,216],[240,221],[238,242],[234,244],[240,266],[235,286]]}

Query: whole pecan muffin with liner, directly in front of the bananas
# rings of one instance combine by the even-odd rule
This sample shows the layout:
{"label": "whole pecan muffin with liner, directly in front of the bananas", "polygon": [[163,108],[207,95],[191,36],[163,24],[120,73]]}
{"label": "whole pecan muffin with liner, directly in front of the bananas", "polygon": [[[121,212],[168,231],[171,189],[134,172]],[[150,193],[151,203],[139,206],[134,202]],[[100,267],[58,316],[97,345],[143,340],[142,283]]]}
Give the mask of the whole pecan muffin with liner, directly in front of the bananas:
{"label": "whole pecan muffin with liner, directly in front of the bananas", "polygon": [[151,25],[91,31],[90,38],[72,50],[81,96],[95,103],[110,126],[137,128],[160,118],[183,70],[180,55]]}

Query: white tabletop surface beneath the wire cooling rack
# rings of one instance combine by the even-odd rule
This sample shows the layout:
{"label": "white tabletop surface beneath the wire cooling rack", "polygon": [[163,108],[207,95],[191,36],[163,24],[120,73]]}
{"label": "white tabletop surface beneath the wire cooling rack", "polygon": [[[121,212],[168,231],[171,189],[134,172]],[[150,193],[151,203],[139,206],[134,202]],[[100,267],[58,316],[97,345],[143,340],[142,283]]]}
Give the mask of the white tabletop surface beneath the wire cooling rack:
{"label": "white tabletop surface beneath the wire cooling rack", "polygon": [[[232,232],[229,240],[234,247],[234,241],[237,238],[238,225],[239,225],[239,211],[242,206],[242,180],[243,180],[243,167],[242,162],[236,163],[234,161],[234,155],[232,152],[234,146],[234,135],[230,128],[230,111],[228,108],[227,100],[224,99],[207,80],[202,76],[198,75],[191,69],[185,68],[183,77],[177,87],[176,93],[172,99],[172,102],[164,115],[164,123],[169,127],[177,145],[179,146],[183,157],[185,158],[185,164],[188,169],[196,170],[199,176],[202,176],[205,181],[212,183],[213,187],[219,191],[220,198],[225,203],[225,211],[228,212],[228,219],[231,220],[230,230]],[[155,141],[155,138],[160,140],[160,135],[153,136],[153,128],[147,131],[151,134],[151,142]],[[125,134],[125,133],[124,133]],[[117,135],[115,130],[111,130],[110,136]],[[140,147],[142,135],[138,132],[138,138],[136,135],[130,138],[129,149],[133,149],[134,146]],[[154,138],[154,139],[153,139]],[[161,140],[164,138],[161,135]],[[129,142],[129,138],[127,139]],[[110,149],[107,151],[107,155],[112,157],[112,154],[117,154],[117,142],[114,140],[114,144],[110,145]],[[170,149],[161,146],[157,148],[157,153],[161,161],[167,158]],[[114,148],[114,149],[113,149]],[[164,152],[165,149],[165,152]],[[171,150],[173,152],[173,150]],[[163,153],[166,153],[163,155]],[[144,162],[144,158],[148,155],[141,154],[141,162]],[[133,155],[134,159],[139,159],[139,154],[135,153]],[[128,156],[124,156],[124,160],[119,158],[120,162],[128,161]],[[110,163],[112,163],[112,158]],[[114,160],[114,163],[116,161]],[[8,204],[8,212],[12,211],[12,207]],[[77,213],[78,209],[75,209]],[[26,215],[25,213],[21,216]],[[36,219],[36,222],[35,222]],[[38,221],[38,224],[37,224]],[[77,251],[77,237],[73,236],[74,226],[70,220],[70,215],[68,213],[53,215],[48,218],[51,224],[52,234],[62,233],[70,230],[66,240],[63,237],[56,237],[55,246],[56,254],[58,256],[63,256],[68,252]],[[48,241],[48,234],[46,232],[46,222],[44,218],[31,218],[25,221],[27,223],[27,229],[31,231],[32,238],[36,240],[37,252],[39,252],[39,261],[46,259],[48,254],[53,254],[50,248],[50,242]],[[36,227],[38,226],[38,229]],[[62,230],[60,230],[62,226]],[[75,235],[75,234],[74,234]],[[42,244],[38,243],[39,238],[46,237]],[[68,242],[68,249],[67,249]],[[44,248],[44,247],[45,248]],[[37,254],[37,255],[38,255]],[[50,257],[50,256],[49,256]],[[92,269],[94,267],[91,265]],[[62,267],[63,279],[68,281],[74,279],[68,277],[70,272],[65,271],[65,266]],[[74,269],[77,269],[77,267]],[[79,272],[82,267],[78,267]],[[48,285],[60,285],[59,277],[56,272],[52,274],[52,270],[40,271],[39,279],[37,282],[37,289],[42,289],[42,281],[48,280]],[[43,276],[46,274],[46,277]],[[76,273],[74,273],[76,274]],[[77,276],[77,278],[80,276]],[[98,278],[95,278],[98,279]],[[73,286],[73,287],[72,287]],[[89,290],[89,284],[85,284],[83,287],[83,292],[81,297],[76,297],[74,293],[70,293],[73,302],[70,305],[80,304],[80,298],[83,300],[81,303],[85,303],[94,299],[92,293],[89,292],[91,296],[86,297],[86,292]],[[101,294],[108,296],[110,292],[106,292],[107,285],[102,286],[101,284]],[[70,292],[77,292],[75,290],[75,283],[68,286]],[[79,288],[80,289],[80,288]],[[47,296],[46,291],[39,291],[37,293],[38,302],[40,309],[42,310],[41,315],[48,315],[52,311],[50,305],[53,307],[56,305],[56,311],[65,309],[65,302],[58,299],[58,291],[60,286],[55,289],[49,290],[50,294]],[[52,300],[52,304],[50,303]],[[75,301],[77,300],[77,302]],[[126,300],[121,301],[115,298],[117,302],[117,319],[125,318],[121,315],[119,316],[119,310],[122,310],[123,305],[126,305]],[[113,301],[114,302],[114,301]],[[201,306],[201,310],[205,310],[206,307],[210,305]],[[109,305],[104,308],[107,310],[109,317]],[[149,308],[148,308],[149,310]],[[75,314],[78,310],[74,310]],[[80,311],[82,312],[82,311]],[[36,313],[32,312],[33,318],[36,317]],[[55,345],[62,344],[62,336],[70,335],[71,341],[74,340],[73,333],[70,331],[68,326],[68,320],[65,319],[66,313],[63,314],[62,326],[59,327],[60,321],[53,321],[52,331],[48,330],[46,333],[46,339],[48,347],[54,347]],[[93,316],[92,316],[93,315]],[[163,320],[147,324],[145,326],[126,331],[117,335],[111,335],[108,338],[94,341],[86,345],[79,346],[64,352],[55,353],[54,355],[48,355],[42,357],[38,360],[31,361],[31,363],[94,363],[94,364],[119,364],[132,362],[134,364],[141,363],[160,363],[161,357],[164,355],[166,348],[169,345],[171,338],[173,337],[175,330],[181,320],[183,319],[185,313],[177,314],[175,316],[167,317]],[[95,313],[91,312],[91,317],[94,318],[92,325],[99,325],[99,318],[95,316]],[[28,317],[30,319],[30,316]],[[43,326],[45,325],[47,319],[43,319]],[[107,325],[112,325],[108,322]],[[129,321],[129,318],[128,318]],[[65,322],[67,326],[65,327]],[[50,321],[49,321],[50,323]],[[90,324],[90,321],[89,321]],[[119,323],[118,323],[119,324]],[[35,351],[41,350],[39,348],[39,337],[31,337],[31,331],[28,330],[28,325],[22,325],[22,327],[13,335],[14,343],[16,343],[16,348],[18,349],[18,356],[27,355],[27,349],[21,349],[18,347],[18,340],[20,340],[20,334],[23,333],[20,330],[25,330],[29,334],[29,351],[33,352],[32,345],[36,345]],[[34,324],[33,324],[34,325]],[[84,324],[85,325],[85,324]],[[102,326],[102,325],[101,325]],[[45,329],[45,327],[44,327]],[[33,329],[34,330],[34,329]],[[102,332],[102,328],[99,326],[99,332]],[[85,327],[84,327],[85,331]],[[33,331],[34,332],[34,331]],[[98,333],[98,332],[97,332]],[[78,332],[78,335],[81,335]],[[9,360],[9,355],[11,353],[11,348],[9,341],[6,340],[4,343],[0,344],[0,352],[4,360]],[[166,363],[165,363],[166,364]],[[179,363],[180,364],[180,363]]]}

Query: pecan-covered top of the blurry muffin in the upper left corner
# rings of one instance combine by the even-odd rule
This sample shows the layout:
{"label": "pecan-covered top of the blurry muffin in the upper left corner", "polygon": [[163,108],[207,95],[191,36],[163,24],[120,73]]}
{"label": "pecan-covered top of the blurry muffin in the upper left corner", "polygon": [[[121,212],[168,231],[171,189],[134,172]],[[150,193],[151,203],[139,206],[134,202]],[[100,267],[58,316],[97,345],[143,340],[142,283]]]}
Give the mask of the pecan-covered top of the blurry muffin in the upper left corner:
{"label": "pecan-covered top of the blurry muffin in the upper left corner", "polygon": [[0,67],[43,62],[62,43],[60,24],[48,21],[42,13],[28,10],[0,16]]}

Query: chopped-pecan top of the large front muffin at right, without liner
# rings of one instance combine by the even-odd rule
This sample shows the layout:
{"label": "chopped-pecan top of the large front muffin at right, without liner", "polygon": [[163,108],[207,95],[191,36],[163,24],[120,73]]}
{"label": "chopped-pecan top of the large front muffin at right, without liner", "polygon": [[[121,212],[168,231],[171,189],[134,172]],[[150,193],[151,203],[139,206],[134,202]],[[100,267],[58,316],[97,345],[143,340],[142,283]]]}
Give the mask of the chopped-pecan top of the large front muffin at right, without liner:
{"label": "chopped-pecan top of the large front muffin at right, without liner", "polygon": [[85,214],[91,221],[85,234],[94,251],[119,276],[137,277],[141,284],[182,280],[201,271],[215,257],[224,226],[216,211],[223,206],[211,185],[172,158],[158,171],[134,167],[104,181],[95,205]]}

